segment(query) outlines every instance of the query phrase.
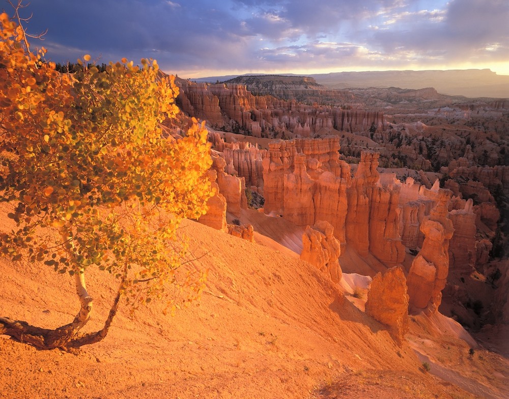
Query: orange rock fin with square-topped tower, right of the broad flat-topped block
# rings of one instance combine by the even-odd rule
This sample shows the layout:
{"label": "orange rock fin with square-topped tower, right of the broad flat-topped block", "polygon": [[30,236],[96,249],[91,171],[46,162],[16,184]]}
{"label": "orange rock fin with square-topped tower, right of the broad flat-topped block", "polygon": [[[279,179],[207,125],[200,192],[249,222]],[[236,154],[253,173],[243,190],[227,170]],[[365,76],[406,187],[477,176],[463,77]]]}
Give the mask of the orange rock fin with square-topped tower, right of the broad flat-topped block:
{"label": "orange rock fin with square-topped tower, right of the broad flat-topped block", "polygon": [[405,258],[399,234],[400,187],[380,184],[378,153],[363,151],[351,186],[347,189],[346,238],[361,255],[372,253],[387,266]]}

